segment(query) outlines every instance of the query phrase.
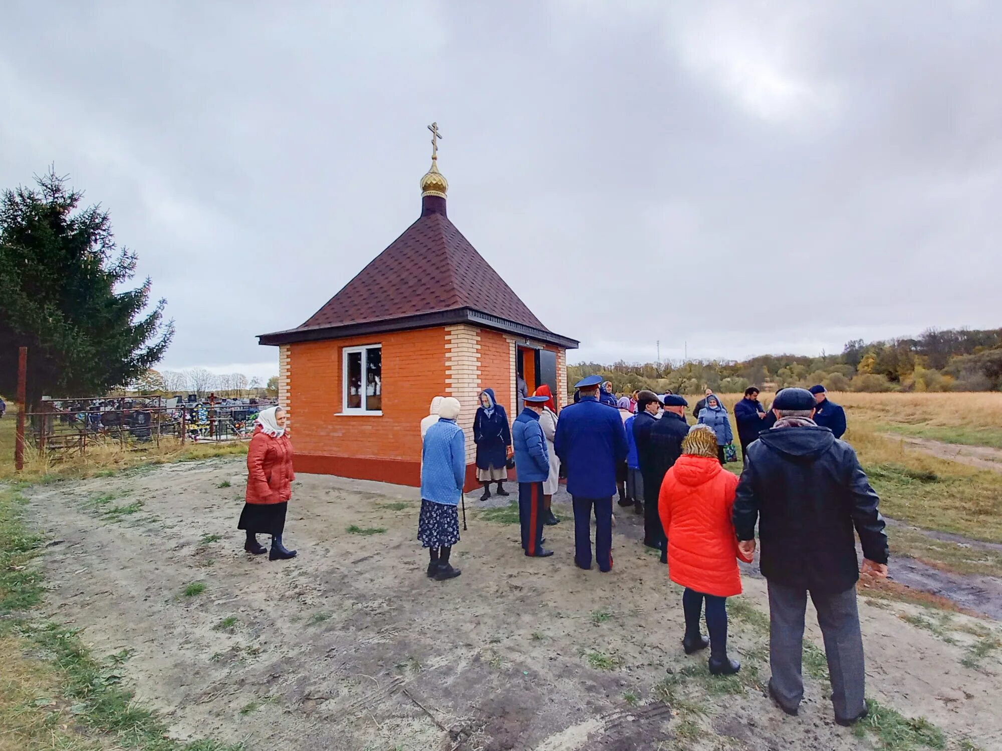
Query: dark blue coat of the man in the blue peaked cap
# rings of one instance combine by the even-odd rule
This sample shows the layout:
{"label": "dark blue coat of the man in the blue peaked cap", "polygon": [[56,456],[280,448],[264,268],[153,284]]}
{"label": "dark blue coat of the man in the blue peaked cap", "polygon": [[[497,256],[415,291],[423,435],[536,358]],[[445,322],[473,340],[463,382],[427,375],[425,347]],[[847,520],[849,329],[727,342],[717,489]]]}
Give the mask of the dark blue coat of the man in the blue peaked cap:
{"label": "dark blue coat of the man in the blue peaked cap", "polygon": [[611,498],[616,466],[626,459],[626,433],[618,410],[582,397],[560,412],[553,448],[567,468],[567,492],[580,498]]}

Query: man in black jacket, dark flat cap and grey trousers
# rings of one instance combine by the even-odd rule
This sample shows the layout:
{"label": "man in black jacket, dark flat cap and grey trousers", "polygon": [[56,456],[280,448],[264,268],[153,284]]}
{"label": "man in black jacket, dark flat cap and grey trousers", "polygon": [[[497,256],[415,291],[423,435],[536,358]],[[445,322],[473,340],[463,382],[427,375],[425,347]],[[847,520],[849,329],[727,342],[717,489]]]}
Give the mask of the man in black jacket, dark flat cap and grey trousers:
{"label": "man in black jacket, dark flat cap and grey trousers", "polygon": [[[749,556],[759,523],[762,573],[769,583],[770,694],[787,714],[797,714],[810,593],[825,638],[835,719],[851,725],[867,713],[856,582],[861,571],[887,576],[888,543],[880,499],[856,452],[814,423],[814,403],[806,389],[777,396],[776,426],[748,446],[734,530]],[[854,529],[863,545],[862,569]]]}

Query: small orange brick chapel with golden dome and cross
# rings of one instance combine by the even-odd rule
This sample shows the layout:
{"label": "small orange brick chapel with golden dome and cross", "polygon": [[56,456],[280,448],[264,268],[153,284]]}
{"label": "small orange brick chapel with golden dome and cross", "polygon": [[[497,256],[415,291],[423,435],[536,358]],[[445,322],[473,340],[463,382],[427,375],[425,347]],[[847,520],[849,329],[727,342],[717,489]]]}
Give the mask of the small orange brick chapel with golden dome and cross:
{"label": "small orange brick chapel with golden dome and cross", "polygon": [[279,346],[279,403],[296,470],[421,483],[422,418],[436,396],[463,406],[467,489],[475,482],[477,395],[493,388],[514,420],[517,378],[566,400],[575,339],[533,315],[446,214],[449,183],[421,178],[421,216],[305,323],[259,336]]}

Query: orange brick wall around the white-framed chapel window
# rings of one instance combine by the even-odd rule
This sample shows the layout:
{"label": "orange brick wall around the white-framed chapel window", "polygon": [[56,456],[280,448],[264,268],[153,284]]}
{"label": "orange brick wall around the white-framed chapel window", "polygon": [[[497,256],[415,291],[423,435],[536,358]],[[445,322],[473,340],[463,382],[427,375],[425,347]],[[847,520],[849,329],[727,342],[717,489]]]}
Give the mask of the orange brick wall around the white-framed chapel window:
{"label": "orange brick wall around the white-framed chapel window", "polygon": [[[342,349],[383,345],[383,415],[342,411]],[[291,346],[290,389],[297,454],[421,462],[421,420],[446,394],[445,329],[304,341]]]}

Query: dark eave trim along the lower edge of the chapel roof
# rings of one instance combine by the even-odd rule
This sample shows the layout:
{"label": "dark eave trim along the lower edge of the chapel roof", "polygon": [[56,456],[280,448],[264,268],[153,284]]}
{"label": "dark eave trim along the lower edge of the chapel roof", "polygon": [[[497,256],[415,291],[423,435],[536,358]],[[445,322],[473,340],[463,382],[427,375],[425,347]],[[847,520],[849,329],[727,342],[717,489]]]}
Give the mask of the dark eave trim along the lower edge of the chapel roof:
{"label": "dark eave trim along the lower edge of the chapel roof", "polygon": [[414,328],[430,328],[433,326],[455,325],[469,323],[471,325],[493,328],[505,333],[545,341],[565,349],[576,349],[580,342],[558,333],[547,331],[535,326],[517,323],[513,320],[491,315],[469,307],[459,307],[454,310],[419,313],[401,318],[384,318],[361,323],[345,323],[333,326],[318,326],[316,328],[291,328],[286,331],[263,333],[258,336],[258,343],[270,346],[291,344],[297,341],[320,341],[323,339],[347,338],[349,336],[364,336],[370,333],[387,333],[389,331],[406,331]]}

